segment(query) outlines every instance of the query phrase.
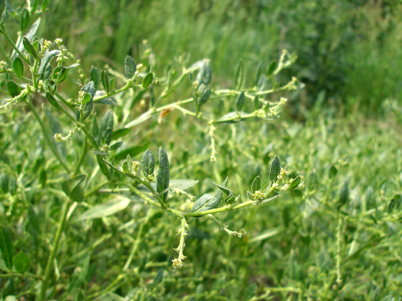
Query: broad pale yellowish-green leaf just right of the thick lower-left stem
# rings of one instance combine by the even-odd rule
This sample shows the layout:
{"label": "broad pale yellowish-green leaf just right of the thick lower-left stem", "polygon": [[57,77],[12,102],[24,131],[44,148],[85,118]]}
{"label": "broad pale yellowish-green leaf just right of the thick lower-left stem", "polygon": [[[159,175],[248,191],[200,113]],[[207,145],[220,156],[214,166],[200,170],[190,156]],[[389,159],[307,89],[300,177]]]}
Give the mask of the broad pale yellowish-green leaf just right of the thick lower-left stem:
{"label": "broad pale yellowish-green leaf just right of the thick lower-left stem", "polygon": [[103,204],[93,206],[92,208],[86,210],[76,217],[73,222],[110,216],[126,209],[129,204],[130,199],[122,196],[115,196]]}

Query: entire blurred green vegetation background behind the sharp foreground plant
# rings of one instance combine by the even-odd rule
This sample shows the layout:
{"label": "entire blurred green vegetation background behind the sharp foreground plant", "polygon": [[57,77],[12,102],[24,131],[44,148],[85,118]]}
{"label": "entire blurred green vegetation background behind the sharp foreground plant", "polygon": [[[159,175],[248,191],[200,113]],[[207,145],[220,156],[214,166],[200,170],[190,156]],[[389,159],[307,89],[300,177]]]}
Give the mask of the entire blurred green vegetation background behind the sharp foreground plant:
{"label": "entire blurred green vegetation background behind the sharp foreground plant", "polygon": [[[17,9],[24,1],[15,3]],[[189,64],[207,57],[213,65],[212,86],[227,88],[242,59],[246,86],[253,86],[259,63],[267,67],[285,48],[298,59],[280,76],[284,82],[296,76],[306,84],[288,95],[284,117],[274,124],[252,120],[219,127],[216,164],[209,161],[208,131],[193,118],[172,112],[162,124],[154,118],[132,130],[133,138],[124,140],[123,147],[145,145],[155,150],[163,145],[171,156],[173,178],[200,180],[191,191],[196,196],[211,191],[212,181],[221,182],[227,175],[238,193],[247,191],[256,175],[266,179],[267,163],[276,154],[290,172],[303,174],[305,185],[280,202],[218,216],[231,229],[248,231],[242,239],[228,237],[207,218],[192,220],[188,258],[180,271],[170,266],[177,229],[166,227],[177,221],[154,212],[144,228],[135,274],[113,292],[129,296],[141,291],[144,300],[155,295],[167,300],[247,300],[266,292],[264,299],[397,300],[402,226],[396,212],[400,196],[393,203],[391,197],[400,194],[402,186],[400,16],[402,4],[396,0],[49,1],[37,36],[62,38],[87,74],[92,65],[106,64],[123,72],[126,55],[140,63],[151,60],[157,76],[180,56],[189,56]],[[10,32],[13,26],[17,28],[8,24]],[[147,51],[151,55],[145,57]],[[75,97],[76,84],[70,79],[63,84],[63,92]],[[188,82],[183,86],[169,101],[190,97]],[[215,102],[206,108],[228,111],[229,105]],[[400,119],[392,117],[391,109]],[[139,114],[143,108],[133,110]],[[118,116],[119,108],[115,111]],[[24,116],[3,136],[9,149],[18,150],[7,153],[10,162],[35,175],[35,162],[51,155],[45,156],[44,146],[34,139],[40,136],[39,128],[27,136],[25,128],[31,124]],[[26,152],[32,145],[38,147],[35,154]],[[71,149],[68,156],[79,158]],[[88,174],[93,170],[91,160],[90,154],[84,167]],[[336,176],[329,173],[331,167],[337,169]],[[59,177],[59,170],[47,172],[49,179]],[[349,199],[340,234],[336,208],[345,181]],[[386,183],[390,197],[381,194]],[[32,200],[41,204],[47,197],[43,192]],[[85,279],[88,291],[100,291],[104,282],[117,278],[145,210],[135,204],[107,223],[94,221],[85,234],[82,225],[71,226],[62,250],[70,252],[60,263],[63,276],[75,268],[69,259],[75,258],[70,244],[75,250],[94,250]],[[131,221],[126,229],[125,223]],[[88,240],[93,243],[110,233],[113,237],[105,243],[87,247]],[[343,283],[338,290],[333,284],[340,253]],[[155,286],[152,279],[160,269],[164,280]]]}

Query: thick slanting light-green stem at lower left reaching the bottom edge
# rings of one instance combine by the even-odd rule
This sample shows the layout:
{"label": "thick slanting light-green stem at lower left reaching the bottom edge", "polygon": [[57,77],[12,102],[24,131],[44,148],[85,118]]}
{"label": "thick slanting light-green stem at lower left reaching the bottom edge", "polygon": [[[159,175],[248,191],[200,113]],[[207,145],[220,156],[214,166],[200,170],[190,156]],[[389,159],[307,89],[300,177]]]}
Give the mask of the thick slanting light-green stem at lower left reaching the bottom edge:
{"label": "thick slanting light-green stem at lower left reaching the bottom edge", "polygon": [[64,225],[67,220],[67,213],[68,213],[69,207],[70,207],[70,199],[66,198],[66,201],[64,202],[64,208],[61,213],[59,225],[57,227],[57,232],[56,232],[56,235],[53,240],[52,251],[50,252],[49,258],[47,260],[46,269],[45,269],[45,277],[44,277],[44,280],[42,281],[42,288],[41,288],[41,293],[39,296],[39,301],[44,301],[46,298],[46,289],[47,289],[47,286],[50,281],[50,275],[52,273],[53,260],[56,257],[57,249],[59,247],[60,237],[61,237],[61,234],[63,233]]}

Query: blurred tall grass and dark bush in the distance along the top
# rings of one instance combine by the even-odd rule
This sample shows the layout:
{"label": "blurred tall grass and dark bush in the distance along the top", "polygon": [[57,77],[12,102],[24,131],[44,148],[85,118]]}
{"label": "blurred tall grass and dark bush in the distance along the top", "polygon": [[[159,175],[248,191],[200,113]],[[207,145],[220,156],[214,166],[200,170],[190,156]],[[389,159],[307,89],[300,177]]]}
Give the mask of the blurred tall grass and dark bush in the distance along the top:
{"label": "blurred tall grass and dark bush in the distance along the top", "polygon": [[39,34],[62,37],[86,70],[121,69],[148,40],[157,71],[183,53],[190,62],[208,57],[218,84],[233,77],[240,59],[253,79],[260,61],[285,48],[298,56],[289,72],[306,83],[296,107],[325,95],[326,105],[377,114],[385,98],[402,97],[400,16],[397,0],[55,0]]}

